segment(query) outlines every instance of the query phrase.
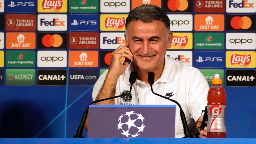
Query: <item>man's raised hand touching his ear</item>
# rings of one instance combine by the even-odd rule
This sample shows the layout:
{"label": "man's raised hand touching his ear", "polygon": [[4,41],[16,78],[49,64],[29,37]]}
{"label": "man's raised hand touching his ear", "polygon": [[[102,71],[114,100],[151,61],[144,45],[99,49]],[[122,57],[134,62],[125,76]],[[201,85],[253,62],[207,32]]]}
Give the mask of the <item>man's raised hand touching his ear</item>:
{"label": "man's raised hand touching his ear", "polygon": [[[123,64],[120,62],[122,57],[126,58]],[[112,76],[119,77],[124,73],[132,59],[133,55],[128,48],[128,43],[123,46],[119,46],[115,51],[111,53],[108,73],[111,73]]]}

